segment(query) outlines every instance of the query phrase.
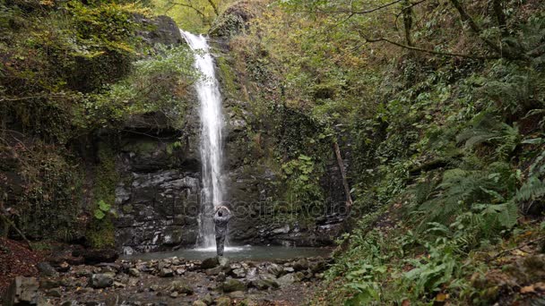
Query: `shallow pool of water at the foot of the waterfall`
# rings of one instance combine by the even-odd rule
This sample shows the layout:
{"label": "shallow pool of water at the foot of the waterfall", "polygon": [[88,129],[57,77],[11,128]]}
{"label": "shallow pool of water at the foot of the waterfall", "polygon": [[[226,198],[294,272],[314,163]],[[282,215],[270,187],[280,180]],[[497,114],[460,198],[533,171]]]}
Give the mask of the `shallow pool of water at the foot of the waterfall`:
{"label": "shallow pool of water at the foot of the waterfall", "polygon": [[[311,247],[284,247],[284,246],[229,246],[225,248],[223,255],[229,259],[238,260],[274,260],[274,259],[295,259],[298,257],[328,257],[332,248],[311,248]],[[180,249],[177,251],[159,251],[140,253],[125,256],[124,259],[168,259],[177,257],[179,259],[202,260],[216,256],[216,248],[195,248]]]}

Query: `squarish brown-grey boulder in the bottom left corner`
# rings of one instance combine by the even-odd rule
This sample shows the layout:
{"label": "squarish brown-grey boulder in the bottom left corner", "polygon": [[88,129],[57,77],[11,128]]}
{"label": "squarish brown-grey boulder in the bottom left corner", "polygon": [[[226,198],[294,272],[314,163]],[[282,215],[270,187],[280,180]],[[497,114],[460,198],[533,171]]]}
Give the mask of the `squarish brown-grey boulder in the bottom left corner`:
{"label": "squarish brown-grey boulder in the bottom left corner", "polygon": [[4,306],[38,304],[36,277],[15,276],[4,294]]}

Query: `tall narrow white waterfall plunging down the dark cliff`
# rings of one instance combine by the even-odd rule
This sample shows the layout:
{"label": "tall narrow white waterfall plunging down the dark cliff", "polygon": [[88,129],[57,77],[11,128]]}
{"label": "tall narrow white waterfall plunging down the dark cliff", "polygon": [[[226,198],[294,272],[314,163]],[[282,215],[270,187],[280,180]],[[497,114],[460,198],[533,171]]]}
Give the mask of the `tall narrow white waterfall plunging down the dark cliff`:
{"label": "tall narrow white waterfall plunging down the dark cliff", "polygon": [[206,38],[180,30],[187,44],[195,53],[195,68],[203,74],[196,82],[201,116],[201,159],[203,164],[203,192],[199,216],[199,246],[214,248],[213,208],[223,202],[222,182],[222,139],[223,114],[221,112],[221,93],[215,76],[214,62],[210,55]]}

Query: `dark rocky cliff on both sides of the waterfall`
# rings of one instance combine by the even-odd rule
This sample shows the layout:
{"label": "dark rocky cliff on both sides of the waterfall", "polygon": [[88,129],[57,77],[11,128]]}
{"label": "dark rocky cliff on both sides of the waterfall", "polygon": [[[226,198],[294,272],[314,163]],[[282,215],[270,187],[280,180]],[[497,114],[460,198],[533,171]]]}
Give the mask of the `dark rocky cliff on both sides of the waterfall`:
{"label": "dark rocky cliff on both sides of the waterfall", "polygon": [[[178,43],[179,32],[170,21],[159,23],[159,26],[160,35],[151,32],[145,37]],[[227,32],[231,33],[231,30]],[[226,40],[216,38],[213,44],[217,63],[223,68],[218,73],[227,120],[224,141],[227,199],[234,213],[229,223],[229,243],[332,244],[342,231],[339,212],[345,199],[333,150],[320,181],[325,194],[324,202],[319,204],[323,208],[320,213],[317,216],[298,213],[288,217],[278,210],[282,177],[278,169],[267,166],[266,160],[252,151],[255,133],[249,124],[256,118],[252,101],[233,98],[242,92],[241,88],[233,92],[232,80],[225,67],[221,67],[229,57]],[[195,108],[198,102],[195,98],[190,100],[183,131],[170,126],[160,115],[150,114],[133,118],[120,137],[117,170],[122,179],[116,189],[119,217],[115,224],[117,246],[127,253],[195,245],[201,165]]]}

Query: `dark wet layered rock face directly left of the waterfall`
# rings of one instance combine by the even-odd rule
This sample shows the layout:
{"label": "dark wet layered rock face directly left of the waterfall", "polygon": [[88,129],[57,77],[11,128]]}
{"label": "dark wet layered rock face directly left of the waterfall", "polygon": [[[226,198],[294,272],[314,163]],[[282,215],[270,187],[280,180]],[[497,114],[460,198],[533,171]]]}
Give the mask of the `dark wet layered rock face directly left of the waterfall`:
{"label": "dark wet layered rock face directly left of the waterfall", "polygon": [[117,247],[125,254],[195,245],[201,164],[194,112],[188,110],[183,131],[158,114],[125,123],[115,221]]}

